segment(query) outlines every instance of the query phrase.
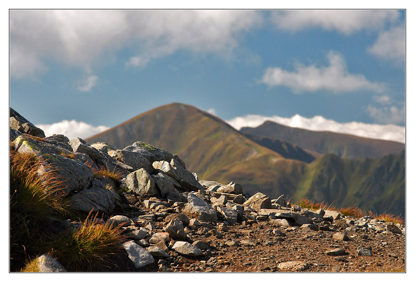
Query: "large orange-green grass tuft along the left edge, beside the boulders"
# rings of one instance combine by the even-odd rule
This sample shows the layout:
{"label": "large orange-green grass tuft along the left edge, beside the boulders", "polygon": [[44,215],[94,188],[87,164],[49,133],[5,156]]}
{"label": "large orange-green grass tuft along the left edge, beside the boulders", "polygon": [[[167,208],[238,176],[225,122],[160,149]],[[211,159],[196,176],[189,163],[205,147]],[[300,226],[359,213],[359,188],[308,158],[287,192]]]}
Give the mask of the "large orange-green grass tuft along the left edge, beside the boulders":
{"label": "large orange-green grass tuft along the left edge, beside the boulders", "polygon": [[62,179],[35,153],[18,153],[10,145],[10,269],[36,253],[51,230],[50,216],[68,213]]}

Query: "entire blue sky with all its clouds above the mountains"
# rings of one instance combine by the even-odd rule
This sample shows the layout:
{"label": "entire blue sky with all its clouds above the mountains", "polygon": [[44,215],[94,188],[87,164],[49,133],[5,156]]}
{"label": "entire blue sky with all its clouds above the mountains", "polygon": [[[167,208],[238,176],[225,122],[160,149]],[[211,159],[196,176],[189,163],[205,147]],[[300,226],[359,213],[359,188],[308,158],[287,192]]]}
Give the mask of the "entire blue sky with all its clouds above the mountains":
{"label": "entire blue sky with all its clouds above the mountains", "polygon": [[172,102],[405,142],[404,10],[10,10],[10,106],[87,138]]}

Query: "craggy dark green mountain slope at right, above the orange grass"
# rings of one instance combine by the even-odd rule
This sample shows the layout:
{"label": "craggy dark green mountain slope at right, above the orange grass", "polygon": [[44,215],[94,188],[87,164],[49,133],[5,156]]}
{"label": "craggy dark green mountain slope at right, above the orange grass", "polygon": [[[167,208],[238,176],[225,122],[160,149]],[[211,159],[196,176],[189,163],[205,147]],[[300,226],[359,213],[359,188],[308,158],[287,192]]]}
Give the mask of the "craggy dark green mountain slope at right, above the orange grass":
{"label": "craggy dark green mountain slope at right, above the orange grass", "polygon": [[405,151],[380,159],[326,154],[311,163],[298,182],[295,198],[303,197],[405,215]]}

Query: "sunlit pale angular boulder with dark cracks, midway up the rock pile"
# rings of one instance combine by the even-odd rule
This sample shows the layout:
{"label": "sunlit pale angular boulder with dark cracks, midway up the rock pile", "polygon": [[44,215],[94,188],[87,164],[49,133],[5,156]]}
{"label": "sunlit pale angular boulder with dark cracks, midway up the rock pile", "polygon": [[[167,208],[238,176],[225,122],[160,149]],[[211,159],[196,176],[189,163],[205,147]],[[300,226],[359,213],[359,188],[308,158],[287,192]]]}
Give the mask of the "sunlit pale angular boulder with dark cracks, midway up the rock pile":
{"label": "sunlit pale angular boulder with dark cracks, midway up the rock pile", "polygon": [[160,195],[156,182],[145,169],[139,169],[127,175],[125,184],[128,189],[141,197]]}

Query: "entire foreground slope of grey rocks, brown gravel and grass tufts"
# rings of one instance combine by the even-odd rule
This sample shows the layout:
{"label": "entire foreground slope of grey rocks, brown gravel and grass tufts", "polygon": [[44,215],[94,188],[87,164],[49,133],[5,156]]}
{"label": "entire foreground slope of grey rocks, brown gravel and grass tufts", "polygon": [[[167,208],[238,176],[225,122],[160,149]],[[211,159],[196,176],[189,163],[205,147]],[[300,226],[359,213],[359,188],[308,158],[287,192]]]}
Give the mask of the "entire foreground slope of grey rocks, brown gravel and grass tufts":
{"label": "entire foreground slope of grey rocks, brown gravel and grass tufts", "polygon": [[45,137],[16,114],[10,118],[10,271],[406,269],[402,218],[308,207],[212,180],[151,144],[114,149]]}

